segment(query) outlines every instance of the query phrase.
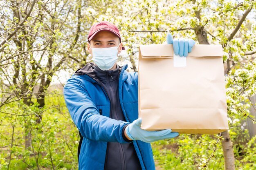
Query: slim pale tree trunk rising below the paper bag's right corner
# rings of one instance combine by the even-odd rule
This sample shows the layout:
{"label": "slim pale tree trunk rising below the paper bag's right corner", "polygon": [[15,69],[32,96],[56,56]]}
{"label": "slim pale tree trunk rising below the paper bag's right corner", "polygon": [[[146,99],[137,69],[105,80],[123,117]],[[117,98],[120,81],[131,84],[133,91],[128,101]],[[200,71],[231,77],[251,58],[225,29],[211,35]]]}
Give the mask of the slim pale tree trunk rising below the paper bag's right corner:
{"label": "slim pale tree trunk rising below the paper bag's right corner", "polygon": [[224,153],[225,160],[225,170],[234,170],[235,169],[235,157],[233,151],[233,145],[230,139],[230,135],[228,131],[222,132],[222,150]]}

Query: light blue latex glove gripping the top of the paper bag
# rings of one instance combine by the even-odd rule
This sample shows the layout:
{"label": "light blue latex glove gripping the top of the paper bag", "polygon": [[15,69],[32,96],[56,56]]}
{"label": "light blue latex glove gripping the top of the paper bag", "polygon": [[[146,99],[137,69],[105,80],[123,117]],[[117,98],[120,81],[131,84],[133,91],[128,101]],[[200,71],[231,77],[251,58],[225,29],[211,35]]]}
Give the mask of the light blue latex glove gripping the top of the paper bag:
{"label": "light blue latex glove gripping the top of the paper bag", "polygon": [[180,55],[182,56],[188,56],[188,53],[191,52],[195,41],[192,39],[183,39],[183,38],[174,38],[171,35],[171,33],[167,33],[167,38],[166,38],[167,44],[173,44],[173,50],[175,55]]}

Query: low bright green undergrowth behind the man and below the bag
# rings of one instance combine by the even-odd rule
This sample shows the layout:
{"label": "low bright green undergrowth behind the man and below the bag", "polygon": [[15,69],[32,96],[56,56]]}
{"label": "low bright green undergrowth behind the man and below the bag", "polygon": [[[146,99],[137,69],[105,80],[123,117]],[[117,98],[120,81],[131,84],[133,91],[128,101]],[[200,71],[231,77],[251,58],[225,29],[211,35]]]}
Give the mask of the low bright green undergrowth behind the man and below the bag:
{"label": "low bright green undergrowth behind the man and below the bag", "polygon": [[[59,94],[58,94],[59,93]],[[23,124],[24,117],[11,116],[2,121],[2,125],[14,124],[13,147],[10,149],[12,126],[1,128],[0,159],[2,170],[7,169],[8,157],[12,153],[9,166],[11,170],[40,169],[74,170],[77,169],[77,148],[79,135],[65,107],[61,91],[58,95],[48,95],[47,108],[58,106],[45,111],[41,124],[33,117]],[[22,106],[22,102],[17,106]],[[34,112],[29,107],[30,113]],[[18,120],[17,120],[18,119]],[[31,127],[32,146],[24,148],[24,128]],[[238,170],[254,170],[256,161],[256,137],[249,139],[248,131],[242,131],[238,126],[232,130],[231,140],[234,144],[236,167]],[[220,143],[216,144],[218,135],[185,135],[176,139],[167,139],[152,143],[156,167],[162,170],[195,170],[208,159],[216,146],[214,157],[207,165],[209,170],[224,169],[224,159]]]}

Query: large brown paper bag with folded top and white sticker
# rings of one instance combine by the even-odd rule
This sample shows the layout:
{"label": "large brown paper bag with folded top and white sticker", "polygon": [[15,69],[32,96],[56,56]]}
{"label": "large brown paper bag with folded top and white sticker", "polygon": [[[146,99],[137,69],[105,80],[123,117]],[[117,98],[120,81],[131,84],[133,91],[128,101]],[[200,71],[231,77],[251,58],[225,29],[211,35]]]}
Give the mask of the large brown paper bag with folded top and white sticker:
{"label": "large brown paper bag with folded top and white sticker", "polygon": [[177,67],[171,44],[140,46],[141,128],[193,134],[228,130],[222,55],[221,45],[195,45],[186,66]]}

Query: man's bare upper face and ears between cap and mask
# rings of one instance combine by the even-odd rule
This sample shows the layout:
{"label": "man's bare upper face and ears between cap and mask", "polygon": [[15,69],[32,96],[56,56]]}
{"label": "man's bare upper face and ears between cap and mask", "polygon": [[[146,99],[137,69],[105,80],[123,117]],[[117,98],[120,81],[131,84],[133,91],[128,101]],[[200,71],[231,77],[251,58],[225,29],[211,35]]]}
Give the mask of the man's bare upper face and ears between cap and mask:
{"label": "man's bare upper face and ears between cap and mask", "polygon": [[[120,40],[114,33],[111,33],[110,31],[100,31],[92,38],[92,40],[90,40],[90,45],[88,44],[88,51],[92,54],[90,46],[92,48],[109,48],[118,46],[119,43]],[[118,47],[118,53],[121,53],[121,50],[122,43],[120,43]]]}

